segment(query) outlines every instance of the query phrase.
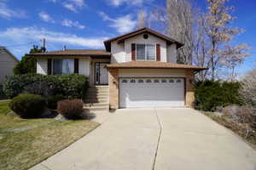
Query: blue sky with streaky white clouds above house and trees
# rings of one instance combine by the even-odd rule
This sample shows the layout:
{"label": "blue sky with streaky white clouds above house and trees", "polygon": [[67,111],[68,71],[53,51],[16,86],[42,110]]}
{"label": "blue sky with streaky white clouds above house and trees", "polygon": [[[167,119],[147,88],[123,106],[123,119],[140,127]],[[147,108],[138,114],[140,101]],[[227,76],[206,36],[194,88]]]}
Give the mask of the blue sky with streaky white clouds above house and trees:
{"label": "blue sky with streaky white clouds above house and trees", "polygon": [[[32,44],[46,38],[47,50],[104,48],[104,40],[137,28],[137,13],[164,6],[165,0],[0,0],[0,46],[18,59]],[[201,8],[205,0],[195,0]],[[256,67],[256,1],[230,0],[236,8],[233,26],[246,30],[234,44],[247,43],[252,49],[237,71]],[[154,28],[154,25],[152,26]]]}

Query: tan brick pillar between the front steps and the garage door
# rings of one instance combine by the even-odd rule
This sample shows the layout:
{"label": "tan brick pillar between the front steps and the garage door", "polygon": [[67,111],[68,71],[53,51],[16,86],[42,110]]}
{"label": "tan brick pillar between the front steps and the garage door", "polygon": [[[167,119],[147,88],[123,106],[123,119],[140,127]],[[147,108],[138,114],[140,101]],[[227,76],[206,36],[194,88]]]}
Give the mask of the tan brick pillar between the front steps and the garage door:
{"label": "tan brick pillar between the front steps and the garage door", "polygon": [[109,108],[119,109],[119,70],[109,69]]}

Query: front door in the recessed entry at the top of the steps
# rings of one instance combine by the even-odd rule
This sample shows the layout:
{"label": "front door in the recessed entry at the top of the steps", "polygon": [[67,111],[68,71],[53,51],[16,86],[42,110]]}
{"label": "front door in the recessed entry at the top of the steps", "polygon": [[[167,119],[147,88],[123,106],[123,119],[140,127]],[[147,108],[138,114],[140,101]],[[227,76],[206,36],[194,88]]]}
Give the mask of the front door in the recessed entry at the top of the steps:
{"label": "front door in the recessed entry at the top of the steps", "polygon": [[108,63],[96,63],[95,64],[95,83],[96,84],[108,84],[108,70],[106,68]]}

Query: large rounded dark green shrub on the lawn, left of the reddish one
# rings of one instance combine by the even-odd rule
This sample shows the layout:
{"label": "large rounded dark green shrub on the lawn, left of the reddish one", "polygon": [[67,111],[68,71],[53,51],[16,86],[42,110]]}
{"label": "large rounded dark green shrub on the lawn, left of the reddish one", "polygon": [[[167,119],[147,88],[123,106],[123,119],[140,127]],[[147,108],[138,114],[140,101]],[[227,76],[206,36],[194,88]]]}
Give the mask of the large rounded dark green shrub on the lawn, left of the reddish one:
{"label": "large rounded dark green shrub on the lawn, left of the reddish one", "polygon": [[44,98],[36,94],[20,94],[9,103],[9,108],[23,118],[40,116],[44,107]]}

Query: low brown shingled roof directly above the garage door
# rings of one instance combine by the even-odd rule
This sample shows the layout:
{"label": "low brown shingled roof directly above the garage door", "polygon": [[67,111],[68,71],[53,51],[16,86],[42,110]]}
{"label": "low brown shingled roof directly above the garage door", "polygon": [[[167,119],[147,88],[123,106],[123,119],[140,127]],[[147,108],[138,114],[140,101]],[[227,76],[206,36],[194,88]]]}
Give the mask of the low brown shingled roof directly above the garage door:
{"label": "low brown shingled roof directly above the garage door", "polygon": [[123,68],[123,69],[192,69],[207,70],[206,68],[195,65],[183,65],[176,63],[166,63],[161,61],[130,61],[125,63],[114,63],[107,65],[107,68]]}

